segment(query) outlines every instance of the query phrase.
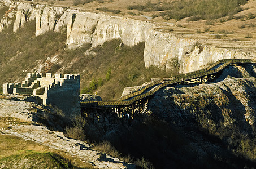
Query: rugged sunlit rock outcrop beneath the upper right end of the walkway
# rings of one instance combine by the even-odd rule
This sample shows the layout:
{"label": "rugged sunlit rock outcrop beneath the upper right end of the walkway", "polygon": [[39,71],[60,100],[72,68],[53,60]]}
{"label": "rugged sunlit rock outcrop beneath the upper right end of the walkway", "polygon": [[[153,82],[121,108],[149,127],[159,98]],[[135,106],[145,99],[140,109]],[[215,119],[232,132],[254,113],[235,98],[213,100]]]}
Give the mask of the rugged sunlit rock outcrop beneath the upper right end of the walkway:
{"label": "rugged sunlit rock outcrop beneath the upper right end of the walkway", "polygon": [[176,85],[158,91],[149,102],[149,109],[178,126],[189,126],[194,121],[236,124],[250,134],[256,125],[255,75],[255,65],[229,66],[215,83]]}

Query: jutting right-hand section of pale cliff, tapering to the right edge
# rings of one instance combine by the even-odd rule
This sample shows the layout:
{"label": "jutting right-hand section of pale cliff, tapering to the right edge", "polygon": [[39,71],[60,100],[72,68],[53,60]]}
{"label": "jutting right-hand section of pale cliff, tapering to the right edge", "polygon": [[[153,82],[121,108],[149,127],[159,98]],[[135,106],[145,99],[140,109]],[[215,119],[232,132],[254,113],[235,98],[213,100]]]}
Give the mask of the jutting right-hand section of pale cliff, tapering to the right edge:
{"label": "jutting right-hand section of pale cliff, tapering to the right edge", "polygon": [[199,45],[197,39],[180,38],[170,33],[150,30],[145,42],[145,66],[157,66],[167,72],[172,69],[171,59],[179,61],[179,73],[204,68],[220,59],[251,59],[254,53]]}

